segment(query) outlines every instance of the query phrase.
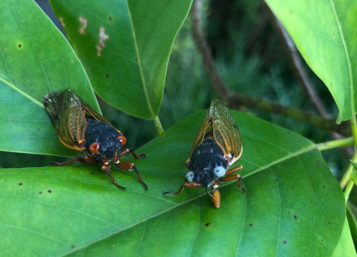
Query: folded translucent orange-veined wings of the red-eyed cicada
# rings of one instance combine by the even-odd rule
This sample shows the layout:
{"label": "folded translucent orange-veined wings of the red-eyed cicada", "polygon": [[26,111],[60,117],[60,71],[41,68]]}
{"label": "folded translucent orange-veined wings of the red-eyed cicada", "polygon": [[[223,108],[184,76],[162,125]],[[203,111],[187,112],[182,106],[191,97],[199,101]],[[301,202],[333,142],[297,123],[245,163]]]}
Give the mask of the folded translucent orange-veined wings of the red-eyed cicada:
{"label": "folded translucent orange-veined wings of the red-eyed cicada", "polygon": [[86,149],[83,145],[87,127],[85,117],[109,123],[70,88],[45,95],[43,103],[62,144],[77,151]]}

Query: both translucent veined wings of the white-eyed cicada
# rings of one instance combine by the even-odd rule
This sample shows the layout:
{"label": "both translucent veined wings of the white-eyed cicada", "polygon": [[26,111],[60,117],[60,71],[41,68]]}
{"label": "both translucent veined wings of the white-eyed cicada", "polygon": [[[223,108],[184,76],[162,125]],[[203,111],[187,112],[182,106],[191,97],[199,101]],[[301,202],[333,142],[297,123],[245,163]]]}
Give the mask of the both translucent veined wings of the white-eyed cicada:
{"label": "both translucent veined wings of the white-eyed cicada", "polygon": [[210,132],[213,133],[215,142],[221,147],[225,156],[232,158],[234,160],[232,163],[236,162],[240,158],[243,149],[241,136],[236,120],[230,110],[218,99],[213,99],[208,108],[206,117],[198,129],[192,144],[187,162],[190,162],[193,151],[202,143],[205,135]]}

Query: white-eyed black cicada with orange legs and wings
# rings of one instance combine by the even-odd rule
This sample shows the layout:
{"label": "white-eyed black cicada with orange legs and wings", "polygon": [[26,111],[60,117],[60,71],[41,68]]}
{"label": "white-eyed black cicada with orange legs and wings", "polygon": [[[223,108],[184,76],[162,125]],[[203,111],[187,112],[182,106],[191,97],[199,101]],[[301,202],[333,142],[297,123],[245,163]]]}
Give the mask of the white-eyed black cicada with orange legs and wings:
{"label": "white-eyed black cicada with orange legs and wings", "polygon": [[[179,194],[184,187],[205,187],[215,207],[220,207],[221,195],[218,191],[220,182],[237,179],[237,186],[241,187],[240,174],[233,174],[242,169],[242,165],[235,168],[235,164],[243,151],[241,136],[231,112],[225,104],[218,99],[213,99],[208,108],[205,119],[198,129],[193,142],[190,157],[186,162],[188,172],[186,183],[178,191],[165,192],[165,194]],[[212,188],[212,194],[207,188]]]}

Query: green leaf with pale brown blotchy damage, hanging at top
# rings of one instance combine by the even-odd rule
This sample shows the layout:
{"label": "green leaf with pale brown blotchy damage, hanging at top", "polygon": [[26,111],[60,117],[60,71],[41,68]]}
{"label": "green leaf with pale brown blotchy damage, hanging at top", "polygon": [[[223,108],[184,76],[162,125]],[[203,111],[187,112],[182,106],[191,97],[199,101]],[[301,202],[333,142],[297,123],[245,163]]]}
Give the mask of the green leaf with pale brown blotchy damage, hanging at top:
{"label": "green leaf with pale brown blotchy damage, hanging at top", "polygon": [[127,114],[154,119],[172,44],[192,0],[50,3],[95,92]]}

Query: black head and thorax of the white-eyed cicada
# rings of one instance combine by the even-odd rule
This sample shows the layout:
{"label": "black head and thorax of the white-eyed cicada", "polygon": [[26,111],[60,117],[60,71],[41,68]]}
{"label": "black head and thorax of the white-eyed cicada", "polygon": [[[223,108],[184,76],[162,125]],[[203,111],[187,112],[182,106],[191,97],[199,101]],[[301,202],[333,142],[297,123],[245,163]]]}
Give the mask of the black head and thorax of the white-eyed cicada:
{"label": "black head and thorax of the white-eyed cicada", "polygon": [[222,149],[211,139],[205,139],[193,151],[186,173],[187,182],[201,183],[205,187],[212,186],[226,174],[228,161],[225,159]]}

